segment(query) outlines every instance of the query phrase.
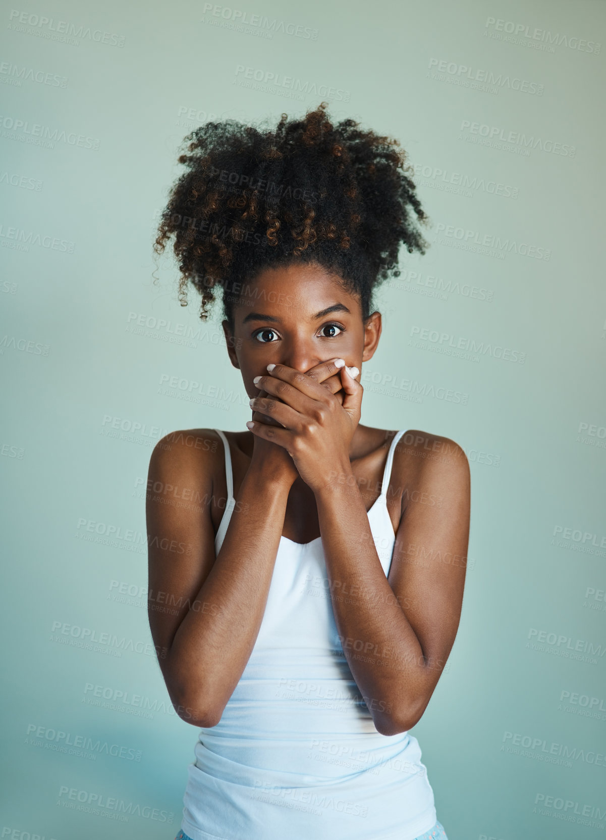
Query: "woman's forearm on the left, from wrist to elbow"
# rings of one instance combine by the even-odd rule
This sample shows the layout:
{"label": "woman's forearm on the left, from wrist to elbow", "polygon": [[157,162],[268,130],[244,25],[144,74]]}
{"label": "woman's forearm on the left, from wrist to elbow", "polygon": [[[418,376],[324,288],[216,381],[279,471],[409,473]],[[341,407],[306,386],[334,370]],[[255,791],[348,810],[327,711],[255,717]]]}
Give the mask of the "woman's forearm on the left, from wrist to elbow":
{"label": "woman's forearm on the left, from wrist to elbow", "polygon": [[266,471],[248,470],[212,570],[175,633],[166,669],[197,720],[221,717],[253,650],[289,491]]}

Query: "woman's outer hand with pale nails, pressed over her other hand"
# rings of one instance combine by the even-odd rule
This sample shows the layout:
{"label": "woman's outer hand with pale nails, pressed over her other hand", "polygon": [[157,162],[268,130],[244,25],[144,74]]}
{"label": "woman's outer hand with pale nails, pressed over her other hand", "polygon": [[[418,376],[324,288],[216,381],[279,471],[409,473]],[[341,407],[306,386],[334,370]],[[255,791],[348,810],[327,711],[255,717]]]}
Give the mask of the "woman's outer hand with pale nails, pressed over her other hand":
{"label": "woman's outer hand with pale nails, pressed over her other hand", "polygon": [[[253,411],[269,415],[284,427],[255,420],[250,431],[284,447],[314,492],[332,483],[331,473],[347,475],[350,471],[349,444],[362,413],[363,386],[347,373],[345,365],[334,370],[341,374],[342,404],[312,376],[287,365],[275,365],[261,376],[256,385],[269,396],[255,396],[250,401]],[[272,400],[272,394],[279,399]]]}

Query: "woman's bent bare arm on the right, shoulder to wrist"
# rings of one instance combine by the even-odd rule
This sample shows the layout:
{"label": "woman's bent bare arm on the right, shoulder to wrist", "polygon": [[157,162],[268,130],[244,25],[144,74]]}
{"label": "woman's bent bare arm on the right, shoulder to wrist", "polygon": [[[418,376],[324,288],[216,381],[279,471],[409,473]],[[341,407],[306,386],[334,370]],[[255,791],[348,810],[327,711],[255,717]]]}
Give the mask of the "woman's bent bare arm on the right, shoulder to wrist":
{"label": "woman's bent bare arm on the right, shoulder to wrist", "polygon": [[448,438],[414,435],[396,447],[405,498],[389,578],[355,478],[316,491],[343,652],[383,735],[415,726],[431,699],[457,634],[467,565],[468,459]]}

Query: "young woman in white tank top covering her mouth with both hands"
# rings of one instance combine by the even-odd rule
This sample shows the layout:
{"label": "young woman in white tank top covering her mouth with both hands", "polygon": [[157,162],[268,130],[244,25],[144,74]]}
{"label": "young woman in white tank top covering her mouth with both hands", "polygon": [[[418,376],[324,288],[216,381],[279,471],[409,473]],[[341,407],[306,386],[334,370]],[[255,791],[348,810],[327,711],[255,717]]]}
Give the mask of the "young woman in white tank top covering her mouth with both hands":
{"label": "young woman in white tank top covering her mouth with both hands", "polygon": [[360,423],[373,290],[426,247],[405,153],[325,103],[186,139],[156,251],[175,235],[202,318],[222,289],[252,419],[169,434],[149,465],[149,622],[200,729],[177,837],[447,840],[409,730],[457,633],[468,461]]}

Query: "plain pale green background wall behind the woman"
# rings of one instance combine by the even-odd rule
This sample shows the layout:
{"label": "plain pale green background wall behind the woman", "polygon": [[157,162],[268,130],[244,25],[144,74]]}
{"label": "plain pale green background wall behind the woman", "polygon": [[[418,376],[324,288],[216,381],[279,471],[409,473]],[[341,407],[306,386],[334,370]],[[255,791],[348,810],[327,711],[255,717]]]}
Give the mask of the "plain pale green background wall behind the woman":
{"label": "plain pale green background wall behind the woman", "polygon": [[[561,544],[553,538],[556,528],[571,528],[591,535],[585,545],[606,544],[604,50],[537,50],[490,37],[499,32],[486,24],[500,18],[530,33],[546,29],[603,42],[606,7],[589,0],[311,0],[304,6],[242,0],[221,8],[302,24],[318,36],[263,39],[213,26],[222,18],[207,13],[202,19],[203,3],[18,8],[123,38],[120,47],[83,33],[71,45],[35,34],[52,34],[51,24],[19,31],[9,25],[15,22],[10,8],[2,13],[0,361],[3,393],[10,396],[0,439],[6,680],[0,836],[170,840],[180,825],[196,730],[167,711],[145,719],[125,707],[85,701],[90,683],[169,706],[158,664],[128,650],[115,658],[61,645],[51,630],[53,622],[65,622],[116,633],[133,645],[151,641],[145,598],[139,606],[109,600],[112,580],[146,585],[142,546],[133,552],[127,539],[118,547],[83,541],[78,534],[86,528],[78,523],[131,529],[144,539],[141,482],[161,433],[150,428],[242,429],[249,417],[240,376],[217,331],[218,307],[207,327],[193,294],[190,307],[180,308],[175,266],[163,260],[154,286],[151,252],[154,219],[181,171],[176,150],[187,131],[213,117],[275,123],[282,111],[302,115],[327,98],[322,90],[292,99],[275,89],[241,87],[236,70],[242,65],[349,92],[348,102],[328,99],[332,117],[357,118],[397,137],[426,171],[518,190],[516,198],[481,187],[457,194],[436,188],[446,183],[441,176],[421,174],[431,239],[442,223],[477,232],[478,239],[490,234],[551,250],[550,260],[514,251],[501,260],[436,242],[424,258],[404,254],[400,287],[385,287],[379,297],[384,334],[363,370],[363,422],[453,438],[471,462],[462,620],[447,673],[414,730],[449,840],[602,837],[599,827],[558,818],[562,807],[535,811],[535,798],[562,797],[577,802],[577,810],[606,812],[606,759],[598,766],[585,752],[606,752],[606,604],[585,597],[588,588],[604,589],[606,549],[589,554],[579,550],[578,535]],[[431,59],[468,66],[472,74],[520,78],[543,85],[543,93],[455,85],[448,72],[444,79],[429,75]],[[11,83],[13,70],[24,73],[18,85]],[[31,81],[30,71],[65,76],[65,87]],[[185,122],[180,114],[190,108],[196,118]],[[15,120],[97,139],[98,150],[61,141],[55,148],[28,144],[28,134],[13,132]],[[576,154],[536,149],[525,156],[473,144],[460,132],[463,120],[574,146]],[[14,186],[22,176],[24,186]],[[40,189],[32,189],[38,181]],[[13,247],[14,237],[30,234],[74,243],[73,253]],[[404,270],[421,272],[421,285],[406,284]],[[416,293],[427,276],[450,288],[471,283],[492,291],[492,301],[457,291]],[[164,318],[171,326],[156,337],[130,333],[134,317]],[[177,323],[199,330],[192,346],[168,340]],[[525,363],[419,349],[409,344],[415,327],[498,344],[526,354]],[[26,346],[21,339],[34,342],[34,351],[36,344],[48,346],[48,355],[16,349]],[[162,375],[205,388],[226,385],[243,400],[205,405],[162,396]],[[379,393],[372,376],[389,375],[460,391],[468,402],[414,401],[401,388],[396,396]],[[144,424],[146,434],[135,441],[104,435],[111,426],[104,426],[106,417],[125,428]],[[591,434],[579,433],[583,423],[594,427]],[[572,646],[592,643],[595,662],[556,655],[568,643],[555,653],[528,647],[532,628],[570,638]],[[598,698],[602,711],[597,717],[566,711],[564,691]],[[569,708],[583,711],[578,704]],[[91,760],[40,748],[26,741],[31,727],[101,739],[131,755],[129,749],[139,750],[141,760],[107,754]],[[545,742],[542,750],[566,745],[575,758],[567,766],[541,760],[548,754],[541,747],[538,757],[508,753],[501,748],[504,732]],[[60,806],[61,785],[155,806],[172,812],[174,822],[133,816],[120,823],[68,810]]]}

